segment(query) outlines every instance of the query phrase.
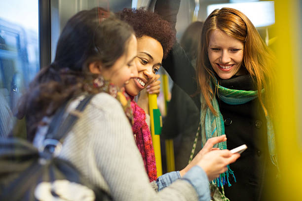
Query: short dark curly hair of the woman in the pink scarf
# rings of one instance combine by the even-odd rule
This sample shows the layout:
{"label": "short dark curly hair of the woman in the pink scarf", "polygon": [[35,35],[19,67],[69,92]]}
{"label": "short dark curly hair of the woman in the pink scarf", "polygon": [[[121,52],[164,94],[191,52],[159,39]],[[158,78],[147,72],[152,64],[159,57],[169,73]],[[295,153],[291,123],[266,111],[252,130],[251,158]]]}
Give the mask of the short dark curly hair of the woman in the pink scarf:
{"label": "short dark curly hair of the woman in the pink scarf", "polygon": [[124,8],[116,13],[120,19],[130,24],[137,38],[143,35],[156,39],[162,45],[163,58],[166,58],[175,41],[176,31],[158,14],[145,8]]}

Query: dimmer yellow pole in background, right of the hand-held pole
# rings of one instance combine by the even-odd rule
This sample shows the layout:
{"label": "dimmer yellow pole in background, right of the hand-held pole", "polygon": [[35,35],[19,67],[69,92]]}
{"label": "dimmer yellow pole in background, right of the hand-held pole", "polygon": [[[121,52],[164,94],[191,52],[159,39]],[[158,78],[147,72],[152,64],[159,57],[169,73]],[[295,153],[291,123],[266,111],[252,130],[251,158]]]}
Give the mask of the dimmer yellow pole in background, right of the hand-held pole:
{"label": "dimmer yellow pole in background, right of the hand-held pole", "polygon": [[[167,114],[168,102],[169,102],[169,82],[168,75],[162,74],[162,90],[165,99],[165,114]],[[166,147],[166,161],[167,161],[167,172],[175,171],[175,159],[174,159],[174,145],[173,139],[165,140]]]}

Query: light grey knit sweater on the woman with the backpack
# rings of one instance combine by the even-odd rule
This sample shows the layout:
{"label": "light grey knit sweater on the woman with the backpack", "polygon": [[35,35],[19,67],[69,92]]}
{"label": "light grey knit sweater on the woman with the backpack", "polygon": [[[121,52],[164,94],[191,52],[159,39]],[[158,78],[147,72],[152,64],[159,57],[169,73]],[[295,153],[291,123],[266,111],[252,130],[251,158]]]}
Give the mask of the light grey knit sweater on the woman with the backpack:
{"label": "light grey knit sweater on the woman with the backpack", "polygon": [[[105,185],[113,200],[193,201],[198,198],[200,200],[200,189],[208,191],[208,185],[204,186],[208,180],[198,172],[195,172],[197,174],[194,179],[184,177],[160,192],[154,191],[136,147],[129,121],[120,103],[114,98],[107,94],[102,98],[95,96],[83,115],[86,117],[80,118],[73,131],[84,135],[82,142],[85,144],[78,145],[83,149],[79,152],[79,147],[75,148],[75,152],[84,158],[79,159],[78,155],[67,158],[74,158],[72,161],[76,163],[76,167],[82,169],[93,183],[99,184],[100,187]],[[79,138],[74,140],[80,140]],[[75,152],[69,154],[76,155]],[[95,181],[98,177],[101,181]]]}

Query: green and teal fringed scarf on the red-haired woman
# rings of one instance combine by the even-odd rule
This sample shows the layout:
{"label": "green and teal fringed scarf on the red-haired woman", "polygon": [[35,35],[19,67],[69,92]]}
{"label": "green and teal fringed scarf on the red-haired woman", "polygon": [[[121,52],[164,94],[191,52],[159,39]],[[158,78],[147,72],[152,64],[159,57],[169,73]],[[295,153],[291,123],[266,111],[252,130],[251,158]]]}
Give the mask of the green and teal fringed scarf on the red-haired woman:
{"label": "green and teal fringed scarf on the red-haired woman", "polygon": [[[222,101],[226,102],[227,104],[244,104],[248,101],[254,100],[258,97],[257,91],[244,91],[244,90],[233,90],[222,87],[218,85],[217,80],[212,80],[211,87],[213,91],[215,88],[213,85],[217,87],[218,97]],[[262,90],[264,93],[264,89]],[[200,97],[201,105],[205,103],[203,96]],[[225,134],[225,126],[224,126],[224,119],[219,110],[219,104],[217,99],[211,100],[211,103],[214,109],[217,111],[217,116],[215,116],[209,107],[206,109],[201,109],[200,111],[200,132],[202,136],[202,145],[206,143],[206,141],[211,137],[216,137]],[[266,126],[267,126],[267,142],[268,142],[268,150],[270,155],[271,162],[278,167],[277,165],[277,157],[276,157],[276,150],[275,150],[275,136],[273,131],[273,126],[269,115],[266,115]],[[216,147],[220,149],[227,149],[227,141],[219,143]],[[229,183],[229,176],[232,175],[234,177],[234,181],[236,182],[234,172],[227,166],[228,170],[225,173],[220,174],[220,177],[211,181],[212,184],[217,185],[218,187],[222,187],[227,183],[228,186],[231,186]]]}

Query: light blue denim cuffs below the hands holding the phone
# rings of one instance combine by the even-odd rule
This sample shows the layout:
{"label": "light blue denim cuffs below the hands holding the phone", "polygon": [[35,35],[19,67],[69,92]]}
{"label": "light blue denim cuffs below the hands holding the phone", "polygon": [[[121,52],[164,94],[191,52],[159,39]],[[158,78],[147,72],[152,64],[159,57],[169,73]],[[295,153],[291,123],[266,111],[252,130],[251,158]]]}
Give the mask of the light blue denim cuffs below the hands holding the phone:
{"label": "light blue denim cuffs below the hands holding the phone", "polygon": [[173,171],[161,175],[157,178],[156,184],[158,186],[158,191],[169,186],[171,183],[177,179],[183,179],[188,181],[196,190],[199,201],[210,201],[210,189],[209,189],[209,179],[205,171],[199,167],[192,167],[183,177],[181,177],[179,171]]}

